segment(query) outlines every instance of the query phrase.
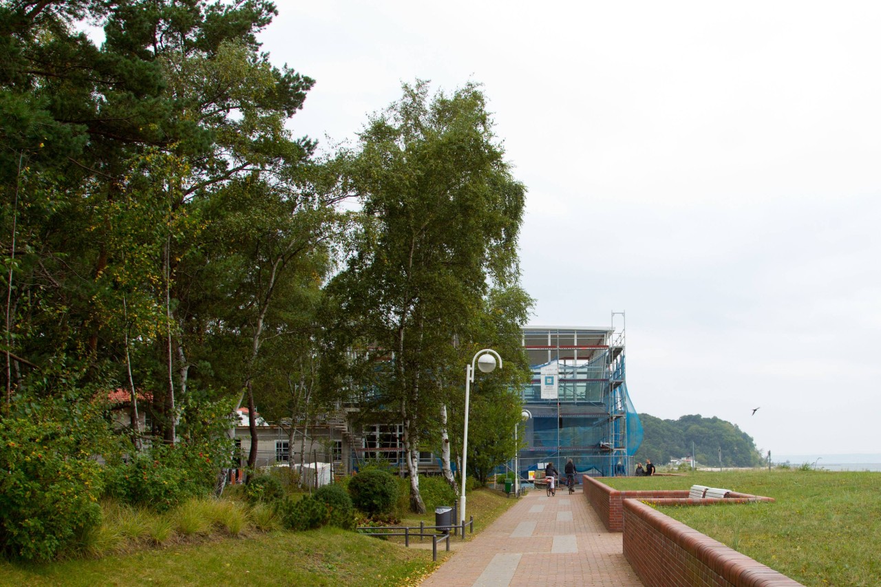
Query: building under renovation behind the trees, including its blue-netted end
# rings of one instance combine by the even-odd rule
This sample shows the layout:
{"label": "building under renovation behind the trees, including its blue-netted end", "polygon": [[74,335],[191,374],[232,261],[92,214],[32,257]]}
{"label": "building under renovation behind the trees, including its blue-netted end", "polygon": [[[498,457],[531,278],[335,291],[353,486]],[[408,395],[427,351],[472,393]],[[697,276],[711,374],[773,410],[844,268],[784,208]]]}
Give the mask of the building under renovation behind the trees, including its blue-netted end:
{"label": "building under renovation behind the trees, including its blue-netted end", "polygon": [[[529,418],[517,430],[526,443],[515,465],[522,479],[549,461],[562,472],[569,458],[579,472],[633,474],[642,427],[627,395],[624,342],[623,328],[523,327],[533,378],[522,390]],[[293,443],[289,422],[258,419],[257,465],[328,463],[334,474],[345,474],[366,460],[384,460],[403,475],[403,426],[355,425],[351,417],[357,412],[357,405],[338,405],[336,412],[316,414],[308,426],[298,422]],[[244,458],[251,444],[247,418],[240,424],[236,442]],[[419,470],[440,473],[438,455],[421,451]]]}

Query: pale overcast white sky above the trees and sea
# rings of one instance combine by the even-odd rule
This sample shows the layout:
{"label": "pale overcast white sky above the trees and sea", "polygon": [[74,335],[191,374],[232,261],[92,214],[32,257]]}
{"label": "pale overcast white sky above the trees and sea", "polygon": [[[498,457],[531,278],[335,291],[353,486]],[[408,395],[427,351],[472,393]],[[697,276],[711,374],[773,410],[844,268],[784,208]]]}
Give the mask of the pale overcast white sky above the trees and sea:
{"label": "pale overcast white sky above the trees and sea", "polygon": [[881,4],[278,8],[264,48],[315,78],[292,128],[324,144],[402,81],[485,85],[529,189],[532,323],[625,310],[640,412],[881,453]]}

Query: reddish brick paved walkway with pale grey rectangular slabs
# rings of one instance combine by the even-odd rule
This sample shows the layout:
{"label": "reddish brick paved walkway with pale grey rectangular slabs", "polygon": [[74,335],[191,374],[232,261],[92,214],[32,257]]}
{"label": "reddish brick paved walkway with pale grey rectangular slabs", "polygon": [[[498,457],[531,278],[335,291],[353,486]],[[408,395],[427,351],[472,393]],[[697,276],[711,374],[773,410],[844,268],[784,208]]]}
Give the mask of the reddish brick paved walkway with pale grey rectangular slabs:
{"label": "reddish brick paved walkway with pale grey rectangular slabs", "polygon": [[556,497],[531,491],[457,548],[422,586],[641,587],[621,552],[621,536],[605,530],[581,489]]}

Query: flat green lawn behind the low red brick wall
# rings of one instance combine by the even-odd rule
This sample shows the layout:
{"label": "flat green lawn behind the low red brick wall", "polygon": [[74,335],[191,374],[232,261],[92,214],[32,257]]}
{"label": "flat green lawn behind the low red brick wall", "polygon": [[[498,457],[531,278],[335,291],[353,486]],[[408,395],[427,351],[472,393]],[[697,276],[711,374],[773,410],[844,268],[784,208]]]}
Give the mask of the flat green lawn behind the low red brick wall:
{"label": "flat green lawn behind the low red brick wall", "polygon": [[723,487],[774,503],[658,508],[805,585],[881,585],[881,473],[693,472],[603,479],[616,489]]}

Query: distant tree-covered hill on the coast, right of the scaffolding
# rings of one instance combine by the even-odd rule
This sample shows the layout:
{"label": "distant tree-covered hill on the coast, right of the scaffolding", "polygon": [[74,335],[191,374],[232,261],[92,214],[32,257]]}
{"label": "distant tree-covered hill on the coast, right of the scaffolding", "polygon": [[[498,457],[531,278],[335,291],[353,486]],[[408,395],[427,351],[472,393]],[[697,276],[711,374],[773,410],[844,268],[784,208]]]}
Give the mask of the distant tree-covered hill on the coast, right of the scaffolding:
{"label": "distant tree-covered hill on the coast, right of the scaffolding", "polygon": [[671,458],[688,457],[694,452],[699,465],[718,466],[722,449],[722,466],[751,467],[762,464],[762,457],[752,437],[727,420],[704,418],[700,414],[681,416],[679,420],[661,420],[640,413],[644,437],[636,460],[646,458],[660,465]]}

